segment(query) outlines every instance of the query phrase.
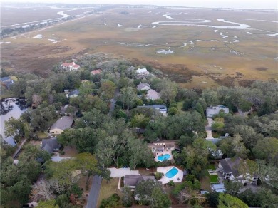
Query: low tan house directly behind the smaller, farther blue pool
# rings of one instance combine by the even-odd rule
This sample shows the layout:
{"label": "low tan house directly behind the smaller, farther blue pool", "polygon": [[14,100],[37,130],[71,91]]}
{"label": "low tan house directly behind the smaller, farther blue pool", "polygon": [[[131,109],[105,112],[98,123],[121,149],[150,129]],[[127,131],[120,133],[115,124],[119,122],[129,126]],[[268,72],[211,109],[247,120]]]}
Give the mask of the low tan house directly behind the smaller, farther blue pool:
{"label": "low tan house directly behind the smaller, farther blue pool", "polygon": [[161,140],[155,141],[148,144],[148,147],[152,150],[153,153],[163,152],[164,150],[176,150],[180,151],[180,147],[177,146],[177,140]]}

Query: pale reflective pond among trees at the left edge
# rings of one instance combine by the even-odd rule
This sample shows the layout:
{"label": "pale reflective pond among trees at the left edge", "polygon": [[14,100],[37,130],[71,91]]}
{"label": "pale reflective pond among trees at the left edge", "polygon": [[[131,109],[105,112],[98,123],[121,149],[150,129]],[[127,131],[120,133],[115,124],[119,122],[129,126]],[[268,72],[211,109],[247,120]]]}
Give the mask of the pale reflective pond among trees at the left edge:
{"label": "pale reflective pond among trees at the left edge", "polygon": [[0,134],[5,139],[5,121],[9,118],[14,117],[18,119],[22,113],[26,110],[26,102],[24,98],[6,98],[1,100],[0,106]]}

